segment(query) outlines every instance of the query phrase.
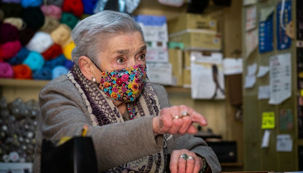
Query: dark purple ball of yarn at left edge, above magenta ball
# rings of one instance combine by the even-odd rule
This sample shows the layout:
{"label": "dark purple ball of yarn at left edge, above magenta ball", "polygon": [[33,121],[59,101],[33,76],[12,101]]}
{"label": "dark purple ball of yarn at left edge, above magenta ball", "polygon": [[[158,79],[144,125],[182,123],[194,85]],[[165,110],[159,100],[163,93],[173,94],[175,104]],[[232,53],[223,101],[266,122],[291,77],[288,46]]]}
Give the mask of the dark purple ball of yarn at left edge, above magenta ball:
{"label": "dark purple ball of yarn at left edge, above magenta ball", "polygon": [[0,26],[0,44],[18,39],[18,29],[11,24]]}

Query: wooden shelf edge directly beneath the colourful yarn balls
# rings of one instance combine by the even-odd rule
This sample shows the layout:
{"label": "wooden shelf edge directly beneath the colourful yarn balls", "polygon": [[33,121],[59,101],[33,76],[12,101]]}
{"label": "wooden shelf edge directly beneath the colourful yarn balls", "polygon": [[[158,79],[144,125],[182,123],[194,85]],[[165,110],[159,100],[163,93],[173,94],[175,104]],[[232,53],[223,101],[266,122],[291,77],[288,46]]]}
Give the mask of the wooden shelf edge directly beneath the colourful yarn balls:
{"label": "wooden shelf edge directly beneath the colourful yarn balls", "polygon": [[0,86],[26,86],[42,88],[50,80],[32,80],[32,79],[6,79],[0,78]]}

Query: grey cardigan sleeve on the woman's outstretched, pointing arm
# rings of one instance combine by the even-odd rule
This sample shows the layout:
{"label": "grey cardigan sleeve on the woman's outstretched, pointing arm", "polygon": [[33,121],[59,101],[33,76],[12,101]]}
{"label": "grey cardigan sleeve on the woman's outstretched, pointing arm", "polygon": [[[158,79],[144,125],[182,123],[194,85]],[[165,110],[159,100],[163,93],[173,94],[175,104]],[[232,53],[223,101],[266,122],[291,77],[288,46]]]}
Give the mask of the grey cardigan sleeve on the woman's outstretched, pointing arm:
{"label": "grey cardigan sleeve on the woman's outstretched, pointing arm", "polygon": [[[40,152],[43,138],[58,140],[64,136],[80,136],[88,124],[96,151],[98,171],[105,171],[162,150],[163,135],[156,139],[152,130],[153,116],[123,123],[92,126],[83,99],[69,81],[50,83],[39,94],[41,117],[36,136],[34,172],[40,172]],[[71,83],[71,82],[70,82]]]}

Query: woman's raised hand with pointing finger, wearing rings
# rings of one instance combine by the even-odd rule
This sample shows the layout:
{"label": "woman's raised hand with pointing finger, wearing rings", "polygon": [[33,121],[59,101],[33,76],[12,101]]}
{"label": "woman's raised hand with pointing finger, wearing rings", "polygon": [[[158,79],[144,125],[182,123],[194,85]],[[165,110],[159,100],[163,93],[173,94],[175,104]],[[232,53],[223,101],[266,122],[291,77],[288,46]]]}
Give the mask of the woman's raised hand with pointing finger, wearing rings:
{"label": "woman's raised hand with pointing finger, wearing rings", "polygon": [[196,134],[198,130],[192,125],[193,122],[199,123],[202,126],[207,125],[206,119],[201,114],[185,105],[161,109],[160,116],[152,119],[155,136],[166,133]]}

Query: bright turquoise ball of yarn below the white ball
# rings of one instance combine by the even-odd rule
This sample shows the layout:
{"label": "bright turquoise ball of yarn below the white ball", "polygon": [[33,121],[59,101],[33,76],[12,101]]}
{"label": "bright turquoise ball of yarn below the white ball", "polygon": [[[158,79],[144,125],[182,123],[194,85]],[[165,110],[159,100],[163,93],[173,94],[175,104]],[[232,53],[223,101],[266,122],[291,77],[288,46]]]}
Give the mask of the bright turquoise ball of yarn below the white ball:
{"label": "bright turquoise ball of yarn below the white ball", "polygon": [[42,55],[38,52],[29,52],[23,64],[27,64],[32,70],[41,69],[44,65],[44,59]]}

